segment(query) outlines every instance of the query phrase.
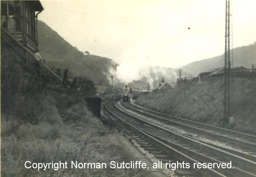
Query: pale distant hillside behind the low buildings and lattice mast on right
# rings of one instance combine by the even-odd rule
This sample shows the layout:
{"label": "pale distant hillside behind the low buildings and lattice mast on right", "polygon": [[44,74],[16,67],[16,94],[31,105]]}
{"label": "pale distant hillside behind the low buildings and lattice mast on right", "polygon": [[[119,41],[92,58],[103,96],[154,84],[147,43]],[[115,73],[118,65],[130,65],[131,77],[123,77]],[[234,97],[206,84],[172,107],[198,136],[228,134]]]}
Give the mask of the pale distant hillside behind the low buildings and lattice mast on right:
{"label": "pale distant hillside behind the low buildings and lattice mast on right", "polygon": [[[234,50],[234,67],[244,66],[246,68],[252,68],[252,64],[256,64],[256,42],[244,47],[238,47]],[[213,58],[199,60],[189,63],[181,68],[191,73],[193,76],[197,76],[201,72],[208,71],[212,68],[224,67],[225,54],[216,56]]]}

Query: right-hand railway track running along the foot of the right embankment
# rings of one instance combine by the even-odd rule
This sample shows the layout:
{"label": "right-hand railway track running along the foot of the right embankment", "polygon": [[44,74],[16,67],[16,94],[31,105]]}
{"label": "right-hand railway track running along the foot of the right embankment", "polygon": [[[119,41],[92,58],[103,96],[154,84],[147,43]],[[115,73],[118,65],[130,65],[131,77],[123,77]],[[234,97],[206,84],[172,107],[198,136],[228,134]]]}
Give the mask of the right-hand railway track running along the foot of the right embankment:
{"label": "right-hand railway track running along the foot of the right embankment", "polygon": [[[196,137],[204,137],[208,140],[218,141],[234,149],[240,149],[241,153],[238,153],[240,155],[244,154],[243,156],[247,156],[246,154],[248,154],[252,156],[247,156],[246,158],[255,159],[256,157],[256,136],[254,135],[207,125],[183,119],[180,117],[170,116],[157,111],[145,109],[130,103],[122,102],[122,105],[125,106],[126,109],[135,111],[138,114],[160,121],[166,125],[175,126],[181,130],[184,130],[185,132],[190,134],[192,138],[193,135],[196,135]],[[200,141],[198,138],[195,139],[197,139],[197,141]],[[202,142],[207,143],[205,141]],[[216,145],[216,147],[220,149],[226,149],[219,145]],[[229,149],[229,151],[232,153],[236,153],[235,151],[232,151],[232,149]]]}

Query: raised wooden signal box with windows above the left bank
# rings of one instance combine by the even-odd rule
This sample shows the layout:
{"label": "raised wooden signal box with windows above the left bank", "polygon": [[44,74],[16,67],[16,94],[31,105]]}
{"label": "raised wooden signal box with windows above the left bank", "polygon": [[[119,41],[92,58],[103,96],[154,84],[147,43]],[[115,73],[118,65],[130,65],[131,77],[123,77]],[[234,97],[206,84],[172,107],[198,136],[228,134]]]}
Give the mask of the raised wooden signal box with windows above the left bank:
{"label": "raised wooden signal box with windows above the left bank", "polygon": [[31,52],[38,48],[37,19],[40,1],[1,1],[1,27]]}

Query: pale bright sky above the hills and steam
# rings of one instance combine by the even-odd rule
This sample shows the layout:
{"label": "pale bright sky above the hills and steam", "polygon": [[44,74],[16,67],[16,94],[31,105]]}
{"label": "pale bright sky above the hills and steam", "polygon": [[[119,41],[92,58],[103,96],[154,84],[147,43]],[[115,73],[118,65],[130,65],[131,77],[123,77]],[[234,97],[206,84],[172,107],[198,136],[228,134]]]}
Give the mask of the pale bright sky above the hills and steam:
{"label": "pale bright sky above the hills and steam", "polygon": [[[225,0],[41,3],[39,20],[80,51],[113,59],[124,70],[178,68],[225,52]],[[256,1],[231,5],[233,47],[253,44]]]}

